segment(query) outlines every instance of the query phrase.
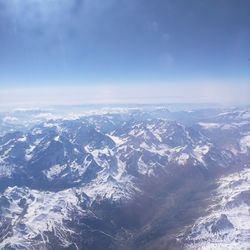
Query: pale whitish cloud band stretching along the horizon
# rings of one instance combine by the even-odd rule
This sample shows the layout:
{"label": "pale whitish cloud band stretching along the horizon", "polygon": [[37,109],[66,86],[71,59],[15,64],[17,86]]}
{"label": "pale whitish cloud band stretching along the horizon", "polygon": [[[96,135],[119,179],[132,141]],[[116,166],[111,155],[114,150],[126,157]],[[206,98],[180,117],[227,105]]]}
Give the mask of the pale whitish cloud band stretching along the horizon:
{"label": "pale whitish cloud band stretching along the horizon", "polygon": [[0,107],[78,104],[218,103],[248,104],[250,86],[199,81],[172,84],[128,84],[1,89]]}

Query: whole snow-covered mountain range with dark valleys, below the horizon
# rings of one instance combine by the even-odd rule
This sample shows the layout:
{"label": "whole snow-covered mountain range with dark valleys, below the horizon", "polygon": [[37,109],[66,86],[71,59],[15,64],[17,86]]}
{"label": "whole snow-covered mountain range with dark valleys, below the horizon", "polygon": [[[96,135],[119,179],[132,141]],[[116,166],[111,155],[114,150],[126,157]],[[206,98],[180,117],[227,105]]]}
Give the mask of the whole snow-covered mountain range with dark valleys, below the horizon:
{"label": "whole snow-covered mountain range with dark valleys, below the horizon", "polygon": [[1,249],[247,249],[249,110],[37,112],[1,132]]}

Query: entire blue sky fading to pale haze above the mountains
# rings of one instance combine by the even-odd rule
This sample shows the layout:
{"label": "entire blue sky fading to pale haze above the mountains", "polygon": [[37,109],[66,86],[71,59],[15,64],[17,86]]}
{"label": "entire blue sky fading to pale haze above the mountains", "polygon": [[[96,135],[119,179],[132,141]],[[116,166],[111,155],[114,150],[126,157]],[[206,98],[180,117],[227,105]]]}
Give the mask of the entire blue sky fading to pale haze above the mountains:
{"label": "entire blue sky fading to pale haze above the mountains", "polygon": [[0,0],[0,105],[248,103],[249,10],[248,0]]}

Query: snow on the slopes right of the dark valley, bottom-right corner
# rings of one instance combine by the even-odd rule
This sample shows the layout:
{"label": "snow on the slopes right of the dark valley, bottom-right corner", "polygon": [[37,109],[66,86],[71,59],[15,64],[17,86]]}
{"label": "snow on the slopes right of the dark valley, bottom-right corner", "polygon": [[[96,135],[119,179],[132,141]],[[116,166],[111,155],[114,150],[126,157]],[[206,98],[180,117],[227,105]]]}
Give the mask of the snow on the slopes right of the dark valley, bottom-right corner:
{"label": "snow on the slopes right of the dark valley, bottom-right corner", "polygon": [[[230,174],[218,180],[218,188],[212,198],[212,204],[207,209],[205,217],[198,219],[191,236],[187,240],[191,242],[185,249],[248,249],[250,244],[250,213],[249,206],[242,202],[236,202],[229,206],[239,194],[250,191],[250,169],[244,169],[238,173]],[[219,206],[218,206],[219,203]],[[233,228],[228,228],[217,233],[211,232],[214,221],[224,214],[227,216]]]}

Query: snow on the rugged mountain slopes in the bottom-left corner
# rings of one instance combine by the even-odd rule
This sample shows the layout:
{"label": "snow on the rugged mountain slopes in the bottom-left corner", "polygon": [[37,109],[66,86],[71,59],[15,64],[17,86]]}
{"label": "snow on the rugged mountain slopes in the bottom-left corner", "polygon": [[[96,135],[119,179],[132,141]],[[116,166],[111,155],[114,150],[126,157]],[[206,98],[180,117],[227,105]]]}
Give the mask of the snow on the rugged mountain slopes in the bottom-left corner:
{"label": "snow on the rugged mountain slopes in the bottom-left corner", "polygon": [[[71,220],[72,213],[78,216],[85,214],[78,205],[79,200],[74,189],[41,192],[13,187],[8,188],[4,196],[10,201],[10,209],[2,208],[2,215],[11,220],[13,233],[2,237],[1,249],[13,244],[29,249],[30,242],[36,242],[35,238],[39,235],[43,243],[46,243],[46,232],[54,232],[60,244],[67,247],[71,242],[65,236],[74,232],[65,222]],[[20,205],[21,200],[26,201],[24,206]],[[25,227],[20,227],[20,223]]]}

